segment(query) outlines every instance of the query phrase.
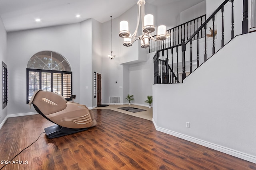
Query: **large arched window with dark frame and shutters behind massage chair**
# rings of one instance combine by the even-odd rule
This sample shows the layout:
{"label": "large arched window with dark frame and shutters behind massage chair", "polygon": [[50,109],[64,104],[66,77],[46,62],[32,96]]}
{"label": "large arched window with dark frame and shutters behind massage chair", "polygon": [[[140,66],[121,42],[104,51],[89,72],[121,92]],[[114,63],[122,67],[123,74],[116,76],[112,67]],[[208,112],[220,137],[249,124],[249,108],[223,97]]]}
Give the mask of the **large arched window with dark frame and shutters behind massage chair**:
{"label": "large arched window with dark frame and shutters behind massage chair", "polygon": [[64,98],[72,94],[72,72],[68,61],[53,51],[40,51],[27,64],[27,103],[38,89]]}

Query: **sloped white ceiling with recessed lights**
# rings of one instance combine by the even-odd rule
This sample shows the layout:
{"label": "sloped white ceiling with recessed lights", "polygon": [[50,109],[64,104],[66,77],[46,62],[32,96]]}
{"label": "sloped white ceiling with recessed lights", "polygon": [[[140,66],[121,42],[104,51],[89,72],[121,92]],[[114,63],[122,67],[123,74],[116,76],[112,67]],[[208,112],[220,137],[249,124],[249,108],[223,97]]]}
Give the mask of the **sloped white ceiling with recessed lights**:
{"label": "sloped white ceiling with recessed lights", "polygon": [[[104,23],[123,14],[138,0],[0,0],[0,16],[7,32],[68,23],[94,18]],[[146,0],[164,5],[179,0]],[[76,15],[80,14],[80,18]],[[40,18],[40,22],[35,19]]]}

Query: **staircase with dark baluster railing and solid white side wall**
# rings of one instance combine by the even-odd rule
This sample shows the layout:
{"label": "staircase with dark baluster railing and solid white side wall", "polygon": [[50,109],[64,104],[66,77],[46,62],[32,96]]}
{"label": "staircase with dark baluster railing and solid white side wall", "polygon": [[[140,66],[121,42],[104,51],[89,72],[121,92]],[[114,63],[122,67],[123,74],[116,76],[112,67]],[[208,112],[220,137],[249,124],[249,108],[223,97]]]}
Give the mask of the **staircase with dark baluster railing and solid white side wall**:
{"label": "staircase with dark baluster railing and solid white side wall", "polygon": [[[225,0],[191,37],[156,52],[152,121],[157,131],[256,163],[256,32],[248,33],[247,5]],[[200,30],[206,36],[196,39]]]}

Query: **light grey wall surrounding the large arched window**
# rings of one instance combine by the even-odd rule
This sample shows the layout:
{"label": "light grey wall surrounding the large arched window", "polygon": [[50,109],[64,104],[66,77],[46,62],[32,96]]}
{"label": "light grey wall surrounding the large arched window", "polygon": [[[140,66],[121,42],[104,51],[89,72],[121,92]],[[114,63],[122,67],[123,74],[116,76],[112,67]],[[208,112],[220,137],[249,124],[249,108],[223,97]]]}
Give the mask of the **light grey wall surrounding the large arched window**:
{"label": "light grey wall surrounding the large arched window", "polygon": [[79,23],[7,33],[8,115],[35,111],[26,104],[26,68],[29,59],[39,51],[54,51],[68,60],[72,70],[73,94],[77,95],[75,101],[80,102],[79,39]]}

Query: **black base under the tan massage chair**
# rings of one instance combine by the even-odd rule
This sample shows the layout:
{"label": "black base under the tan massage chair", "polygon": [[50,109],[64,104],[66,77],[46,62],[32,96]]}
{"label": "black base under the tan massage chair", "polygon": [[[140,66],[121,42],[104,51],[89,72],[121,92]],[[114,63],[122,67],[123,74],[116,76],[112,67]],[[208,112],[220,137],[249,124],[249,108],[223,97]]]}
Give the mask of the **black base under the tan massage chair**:
{"label": "black base under the tan massage chair", "polygon": [[62,127],[62,126],[59,126],[59,125],[53,125],[53,126],[44,128],[46,136],[50,139],[56,138],[56,137],[61,137],[61,136],[64,136],[64,135],[70,135],[72,133],[85,131],[87,129],[88,128],[72,129],[72,128],[67,128],[67,127]]}

